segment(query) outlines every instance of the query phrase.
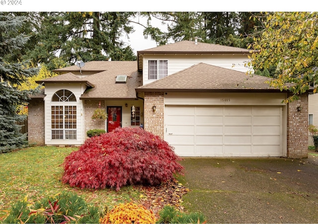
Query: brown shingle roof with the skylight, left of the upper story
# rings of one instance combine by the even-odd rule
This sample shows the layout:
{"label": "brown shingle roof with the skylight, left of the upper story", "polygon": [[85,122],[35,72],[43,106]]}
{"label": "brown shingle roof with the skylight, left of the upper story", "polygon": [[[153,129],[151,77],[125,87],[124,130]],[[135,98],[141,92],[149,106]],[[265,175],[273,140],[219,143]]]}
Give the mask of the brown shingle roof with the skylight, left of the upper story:
{"label": "brown shingle roof with the skylight, left of the upper story", "polygon": [[[95,74],[79,78],[72,72],[79,72],[76,65],[57,69],[68,72],[37,83],[84,83],[89,87],[80,99],[136,99],[135,89],[142,85],[142,75],[137,71],[136,61],[91,61],[81,68],[82,73],[95,71]],[[127,75],[127,83],[116,83],[117,75]]]}

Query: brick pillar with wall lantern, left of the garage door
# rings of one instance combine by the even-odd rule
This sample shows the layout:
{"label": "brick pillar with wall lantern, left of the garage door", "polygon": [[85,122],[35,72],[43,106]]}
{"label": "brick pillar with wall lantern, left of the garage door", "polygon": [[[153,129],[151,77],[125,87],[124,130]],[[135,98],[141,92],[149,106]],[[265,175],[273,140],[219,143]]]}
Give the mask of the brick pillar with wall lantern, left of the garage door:
{"label": "brick pillar with wall lantern, left of the garage door", "polygon": [[[159,135],[164,134],[164,97],[163,93],[145,93],[144,104],[144,129]],[[156,111],[153,111],[153,106]]]}

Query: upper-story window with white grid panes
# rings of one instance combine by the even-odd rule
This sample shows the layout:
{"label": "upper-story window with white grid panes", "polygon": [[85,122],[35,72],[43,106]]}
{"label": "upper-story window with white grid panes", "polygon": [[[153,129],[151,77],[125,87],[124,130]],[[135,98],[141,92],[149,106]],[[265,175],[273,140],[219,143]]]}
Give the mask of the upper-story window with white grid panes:
{"label": "upper-story window with white grid panes", "polygon": [[148,79],[161,79],[168,75],[168,60],[149,60]]}

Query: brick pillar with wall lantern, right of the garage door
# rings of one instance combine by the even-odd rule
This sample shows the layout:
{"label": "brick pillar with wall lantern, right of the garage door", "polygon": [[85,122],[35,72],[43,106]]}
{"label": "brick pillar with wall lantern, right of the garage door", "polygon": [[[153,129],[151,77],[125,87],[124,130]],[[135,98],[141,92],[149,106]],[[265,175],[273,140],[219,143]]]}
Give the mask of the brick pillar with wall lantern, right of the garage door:
{"label": "brick pillar with wall lantern, right of the garage door", "polygon": [[[301,112],[297,107],[301,106]],[[287,157],[308,157],[308,95],[288,104],[287,115]]]}

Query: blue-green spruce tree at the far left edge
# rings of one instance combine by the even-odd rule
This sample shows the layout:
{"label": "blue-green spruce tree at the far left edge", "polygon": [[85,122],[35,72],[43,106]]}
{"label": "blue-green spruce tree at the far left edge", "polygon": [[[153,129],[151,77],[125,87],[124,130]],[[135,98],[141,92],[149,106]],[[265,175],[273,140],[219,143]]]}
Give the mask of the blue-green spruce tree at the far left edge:
{"label": "blue-green spruce tree at the far left edge", "polygon": [[21,33],[25,17],[0,12],[0,153],[17,149],[25,143],[26,135],[20,132],[25,116],[17,113],[20,105],[26,104],[28,96],[35,91],[19,91],[25,79],[36,73],[17,60],[29,39]]}

